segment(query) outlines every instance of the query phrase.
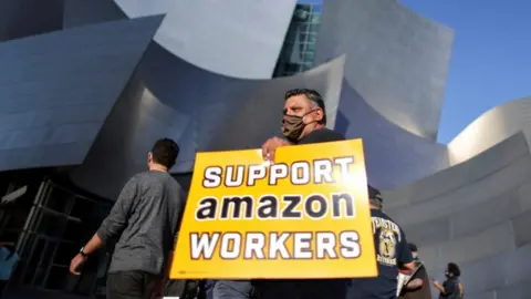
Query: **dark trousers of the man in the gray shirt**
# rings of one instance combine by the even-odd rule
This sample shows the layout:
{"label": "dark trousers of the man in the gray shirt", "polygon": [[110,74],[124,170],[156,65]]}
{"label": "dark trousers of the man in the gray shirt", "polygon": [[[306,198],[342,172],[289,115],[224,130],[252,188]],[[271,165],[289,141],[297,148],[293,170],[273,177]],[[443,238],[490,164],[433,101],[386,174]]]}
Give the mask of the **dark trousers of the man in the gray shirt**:
{"label": "dark trousers of the man in the gray shirt", "polygon": [[160,276],[144,271],[107,275],[107,299],[150,299]]}

